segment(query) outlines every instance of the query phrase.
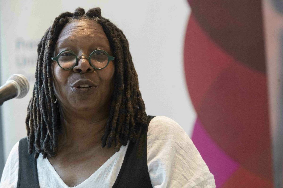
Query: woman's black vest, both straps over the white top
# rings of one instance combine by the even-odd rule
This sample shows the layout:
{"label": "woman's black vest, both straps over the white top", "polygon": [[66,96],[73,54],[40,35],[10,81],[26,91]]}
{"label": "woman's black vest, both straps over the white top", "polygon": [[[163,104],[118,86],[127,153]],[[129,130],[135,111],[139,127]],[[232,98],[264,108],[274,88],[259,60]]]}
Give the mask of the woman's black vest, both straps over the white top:
{"label": "woman's black vest, both straps over the white top", "polygon": [[[147,116],[147,125],[154,116]],[[136,141],[130,141],[118,177],[112,188],[152,188],[147,168],[147,127],[141,127]],[[95,186],[94,186],[95,187]],[[39,188],[37,161],[28,153],[27,137],[19,142],[17,188]],[[45,188],[45,187],[44,187]]]}

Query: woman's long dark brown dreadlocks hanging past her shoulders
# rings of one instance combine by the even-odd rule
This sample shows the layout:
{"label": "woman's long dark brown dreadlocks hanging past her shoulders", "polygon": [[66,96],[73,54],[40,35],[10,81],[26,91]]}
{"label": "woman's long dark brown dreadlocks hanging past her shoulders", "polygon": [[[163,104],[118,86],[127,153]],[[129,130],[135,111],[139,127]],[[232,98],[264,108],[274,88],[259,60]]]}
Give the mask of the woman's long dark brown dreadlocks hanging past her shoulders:
{"label": "woman's long dark brown dreadlocks hanging past her shoulders", "polygon": [[110,148],[114,140],[115,150],[119,151],[122,145],[127,145],[128,140],[135,141],[141,126],[147,126],[138,75],[125,35],[108,19],[101,16],[100,8],[92,8],[87,13],[83,8],[77,8],[74,13],[64,12],[56,17],[38,44],[35,85],[25,120],[29,154],[34,152],[35,159],[38,158],[39,153],[42,153],[43,158],[52,157],[58,148],[60,114],[58,105],[54,103],[51,72],[51,57],[55,43],[67,23],[84,19],[93,20],[102,26],[115,57],[115,85],[110,115],[101,138],[102,147]]}

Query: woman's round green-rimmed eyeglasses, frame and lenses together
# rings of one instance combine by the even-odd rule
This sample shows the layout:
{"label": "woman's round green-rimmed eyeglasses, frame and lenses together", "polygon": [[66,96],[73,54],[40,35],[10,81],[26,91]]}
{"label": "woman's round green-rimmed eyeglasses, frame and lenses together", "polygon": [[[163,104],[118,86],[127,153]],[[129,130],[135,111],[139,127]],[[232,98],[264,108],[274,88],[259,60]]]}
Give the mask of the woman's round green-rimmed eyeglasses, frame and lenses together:
{"label": "woman's round green-rimmed eyeglasses, frame and lenses together", "polygon": [[52,57],[51,59],[53,61],[57,61],[59,67],[63,68],[64,70],[70,70],[78,64],[78,59],[80,59],[82,56],[88,59],[91,67],[98,70],[107,67],[108,63],[115,58],[109,56],[104,50],[94,50],[91,52],[89,57],[84,54],[80,55],[80,57],[77,57],[73,51],[63,50],[58,54],[58,56]]}

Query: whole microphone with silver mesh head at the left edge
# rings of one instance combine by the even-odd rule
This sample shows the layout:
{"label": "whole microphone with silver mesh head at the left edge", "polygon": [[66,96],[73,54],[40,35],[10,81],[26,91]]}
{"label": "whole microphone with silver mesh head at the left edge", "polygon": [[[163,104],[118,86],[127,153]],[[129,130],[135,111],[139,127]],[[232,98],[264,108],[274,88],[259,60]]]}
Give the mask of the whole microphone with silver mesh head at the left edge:
{"label": "whole microphone with silver mesh head at the left edge", "polygon": [[0,87],[0,106],[3,102],[18,98],[21,99],[27,95],[29,91],[29,81],[22,74],[13,74],[8,78],[6,83]]}

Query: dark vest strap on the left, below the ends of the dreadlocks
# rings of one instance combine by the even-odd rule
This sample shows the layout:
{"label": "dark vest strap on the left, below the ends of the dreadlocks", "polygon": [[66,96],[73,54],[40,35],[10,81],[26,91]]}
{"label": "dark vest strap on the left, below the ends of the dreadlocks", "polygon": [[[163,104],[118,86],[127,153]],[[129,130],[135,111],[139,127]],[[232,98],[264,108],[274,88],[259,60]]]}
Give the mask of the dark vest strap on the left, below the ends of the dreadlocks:
{"label": "dark vest strap on the left, below the ends of the dreadlocks", "polygon": [[37,163],[28,152],[27,137],[19,141],[19,172],[17,188],[39,188]]}

